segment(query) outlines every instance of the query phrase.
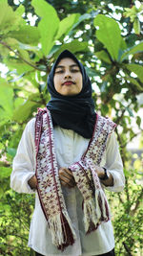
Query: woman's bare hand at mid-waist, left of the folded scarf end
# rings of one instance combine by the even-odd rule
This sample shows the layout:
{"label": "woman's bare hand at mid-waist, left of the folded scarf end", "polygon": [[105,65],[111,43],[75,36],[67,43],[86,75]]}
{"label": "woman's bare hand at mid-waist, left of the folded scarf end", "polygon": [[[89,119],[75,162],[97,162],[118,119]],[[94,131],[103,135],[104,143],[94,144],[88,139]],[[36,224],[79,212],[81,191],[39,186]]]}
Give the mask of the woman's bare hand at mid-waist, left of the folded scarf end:
{"label": "woman's bare hand at mid-waist, left of the folded scarf end", "polygon": [[59,169],[59,178],[61,184],[65,187],[73,188],[76,185],[72,171],[68,168],[63,167]]}

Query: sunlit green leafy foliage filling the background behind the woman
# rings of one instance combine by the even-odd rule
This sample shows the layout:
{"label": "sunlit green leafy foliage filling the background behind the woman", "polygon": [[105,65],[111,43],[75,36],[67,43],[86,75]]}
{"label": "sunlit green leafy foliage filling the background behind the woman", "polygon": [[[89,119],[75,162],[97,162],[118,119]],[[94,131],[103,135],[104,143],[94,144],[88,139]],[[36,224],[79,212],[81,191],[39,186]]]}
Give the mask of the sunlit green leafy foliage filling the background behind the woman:
{"label": "sunlit green leafy foliage filling the background behind the woman", "polygon": [[10,189],[11,163],[27,122],[50,100],[47,75],[64,49],[86,66],[96,111],[118,125],[126,188],[108,195],[116,255],[143,255],[142,13],[131,0],[0,0],[0,255],[34,255],[34,197]]}

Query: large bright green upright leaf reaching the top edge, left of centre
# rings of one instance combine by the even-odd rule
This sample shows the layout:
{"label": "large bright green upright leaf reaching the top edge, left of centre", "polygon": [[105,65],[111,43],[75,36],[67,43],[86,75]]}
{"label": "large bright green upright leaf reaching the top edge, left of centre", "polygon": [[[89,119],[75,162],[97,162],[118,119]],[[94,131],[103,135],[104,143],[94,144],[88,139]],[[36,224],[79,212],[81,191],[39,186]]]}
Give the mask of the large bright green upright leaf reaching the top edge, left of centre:
{"label": "large bright green upright leaf reaching the top edge, left of centre", "polygon": [[41,34],[42,51],[47,56],[54,45],[55,35],[59,27],[59,18],[54,8],[44,0],[32,0],[31,5],[41,17],[38,28]]}

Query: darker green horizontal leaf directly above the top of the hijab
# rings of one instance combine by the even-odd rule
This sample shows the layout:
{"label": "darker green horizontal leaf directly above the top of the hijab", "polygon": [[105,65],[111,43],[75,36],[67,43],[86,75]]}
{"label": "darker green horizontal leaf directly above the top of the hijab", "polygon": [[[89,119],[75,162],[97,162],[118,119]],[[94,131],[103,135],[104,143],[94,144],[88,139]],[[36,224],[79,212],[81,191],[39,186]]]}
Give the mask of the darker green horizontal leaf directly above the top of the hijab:
{"label": "darker green horizontal leaf directly above the top of the hijab", "polygon": [[73,40],[70,43],[63,44],[58,51],[54,54],[54,58],[57,58],[61,52],[69,50],[73,54],[77,52],[84,52],[88,50],[88,42],[80,42],[78,39]]}

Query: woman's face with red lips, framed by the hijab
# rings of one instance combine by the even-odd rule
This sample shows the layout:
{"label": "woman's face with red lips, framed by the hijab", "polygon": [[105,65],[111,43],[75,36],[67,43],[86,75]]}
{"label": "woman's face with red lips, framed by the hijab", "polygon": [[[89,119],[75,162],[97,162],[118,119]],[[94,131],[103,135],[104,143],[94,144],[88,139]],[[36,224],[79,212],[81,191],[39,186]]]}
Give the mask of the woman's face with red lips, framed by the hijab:
{"label": "woman's face with red lips, framed by the hijab", "polygon": [[54,87],[64,96],[78,94],[82,89],[82,74],[72,58],[62,58],[54,71]]}

